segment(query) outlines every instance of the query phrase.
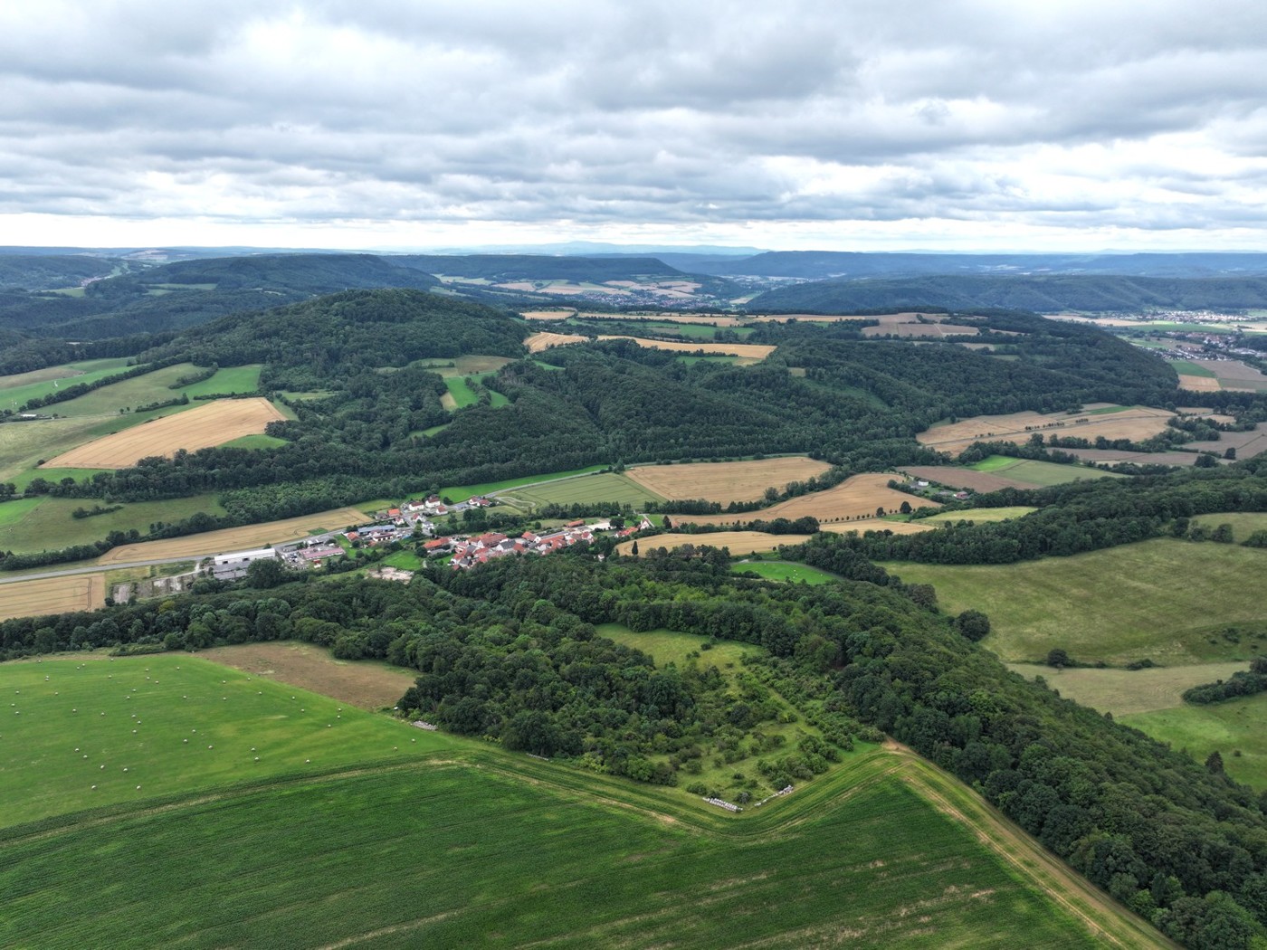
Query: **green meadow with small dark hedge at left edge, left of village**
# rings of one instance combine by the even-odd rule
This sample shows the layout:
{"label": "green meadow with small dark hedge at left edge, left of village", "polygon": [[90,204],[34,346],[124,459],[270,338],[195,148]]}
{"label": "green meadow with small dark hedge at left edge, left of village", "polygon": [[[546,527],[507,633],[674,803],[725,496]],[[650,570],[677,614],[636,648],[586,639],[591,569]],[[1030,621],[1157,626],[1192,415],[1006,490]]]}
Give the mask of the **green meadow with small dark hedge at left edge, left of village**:
{"label": "green meadow with small dark hedge at left edge, left of village", "polygon": [[[111,531],[136,528],[142,535],[150,532],[155,522],[176,522],[199,512],[224,514],[224,508],[214,494],[172,498],[165,502],[132,502],[117,512],[73,518],[76,508],[91,509],[100,505],[95,498],[24,498],[0,504],[0,528],[6,551],[29,554],[71,545],[86,545],[103,538]],[[114,507],[114,505],[108,505]]]}

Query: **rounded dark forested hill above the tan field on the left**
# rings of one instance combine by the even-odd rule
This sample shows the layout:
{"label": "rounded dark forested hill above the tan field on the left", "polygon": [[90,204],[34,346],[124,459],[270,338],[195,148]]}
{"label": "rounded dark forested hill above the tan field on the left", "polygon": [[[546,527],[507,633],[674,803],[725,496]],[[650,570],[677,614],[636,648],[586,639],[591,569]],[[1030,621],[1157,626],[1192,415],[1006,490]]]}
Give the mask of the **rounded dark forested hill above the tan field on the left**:
{"label": "rounded dark forested hill above the tan field on the left", "polygon": [[[341,388],[362,369],[464,353],[521,356],[527,328],[483,304],[421,290],[347,290],[195,327],[144,358],[264,362],[281,388]],[[283,379],[284,377],[284,379]]]}

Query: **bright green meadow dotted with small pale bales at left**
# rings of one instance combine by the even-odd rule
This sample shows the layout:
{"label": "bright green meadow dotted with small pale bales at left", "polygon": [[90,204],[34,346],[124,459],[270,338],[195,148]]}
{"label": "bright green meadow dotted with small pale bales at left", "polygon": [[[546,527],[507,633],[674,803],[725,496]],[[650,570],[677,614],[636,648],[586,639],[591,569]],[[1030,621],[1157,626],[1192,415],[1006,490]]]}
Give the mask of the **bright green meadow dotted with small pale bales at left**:
{"label": "bright green meadow dotted with small pale bales at left", "polygon": [[0,668],[0,695],[10,703],[0,709],[5,827],[279,775],[417,760],[449,745],[443,735],[189,654],[9,662]]}

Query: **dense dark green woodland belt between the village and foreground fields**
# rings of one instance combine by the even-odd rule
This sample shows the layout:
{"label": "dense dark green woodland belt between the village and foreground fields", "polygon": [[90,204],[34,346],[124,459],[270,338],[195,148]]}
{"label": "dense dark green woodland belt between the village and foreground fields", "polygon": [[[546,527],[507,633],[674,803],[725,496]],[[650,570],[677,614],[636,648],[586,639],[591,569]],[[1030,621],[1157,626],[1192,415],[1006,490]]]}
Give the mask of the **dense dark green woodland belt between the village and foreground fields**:
{"label": "dense dark green woodland belt between the village and foreground fields", "polygon": [[[402,703],[446,728],[669,784],[718,752],[773,782],[811,776],[879,730],[1188,946],[1248,947],[1264,932],[1267,797],[1024,681],[920,589],[872,570],[875,583],[822,586],[737,578],[710,556],[507,559],[408,586],[255,571],[222,593],[6,621],[0,650],[295,637],[416,668]],[[655,669],[595,636],[603,622],[740,640],[770,656],[722,694],[698,665]],[[770,689],[831,741],[765,742]]]}

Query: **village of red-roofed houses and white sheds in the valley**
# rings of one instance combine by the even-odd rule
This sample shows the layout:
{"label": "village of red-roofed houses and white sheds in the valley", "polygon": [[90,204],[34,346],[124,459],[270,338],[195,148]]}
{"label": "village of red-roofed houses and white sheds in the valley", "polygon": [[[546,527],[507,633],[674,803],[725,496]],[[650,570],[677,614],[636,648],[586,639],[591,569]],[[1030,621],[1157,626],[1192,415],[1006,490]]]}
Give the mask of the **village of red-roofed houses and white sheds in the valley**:
{"label": "village of red-roofed houses and white sheds in the valley", "polygon": [[[256,561],[281,561],[290,570],[313,570],[328,564],[331,559],[343,557],[348,548],[385,547],[403,541],[422,541],[419,554],[427,559],[449,557],[452,570],[469,570],[487,564],[497,557],[509,557],[527,554],[551,555],[574,545],[588,545],[599,533],[611,532],[616,538],[626,538],[639,531],[653,527],[646,516],[639,523],[613,524],[611,519],[599,518],[587,522],[578,518],[566,524],[523,531],[518,536],[487,531],[473,533],[441,533],[436,519],[446,518],[451,526],[452,517],[471,509],[490,508],[497,504],[494,498],[476,495],[465,502],[446,503],[437,495],[402,503],[397,508],[386,508],[376,513],[374,521],[351,526],[342,532],[326,532],[310,537],[262,547],[253,551],[234,551],[208,557],[201,570],[217,580],[232,581],[245,578]],[[408,581],[413,571],[393,566],[379,566],[370,571],[371,576],[384,580]]]}

